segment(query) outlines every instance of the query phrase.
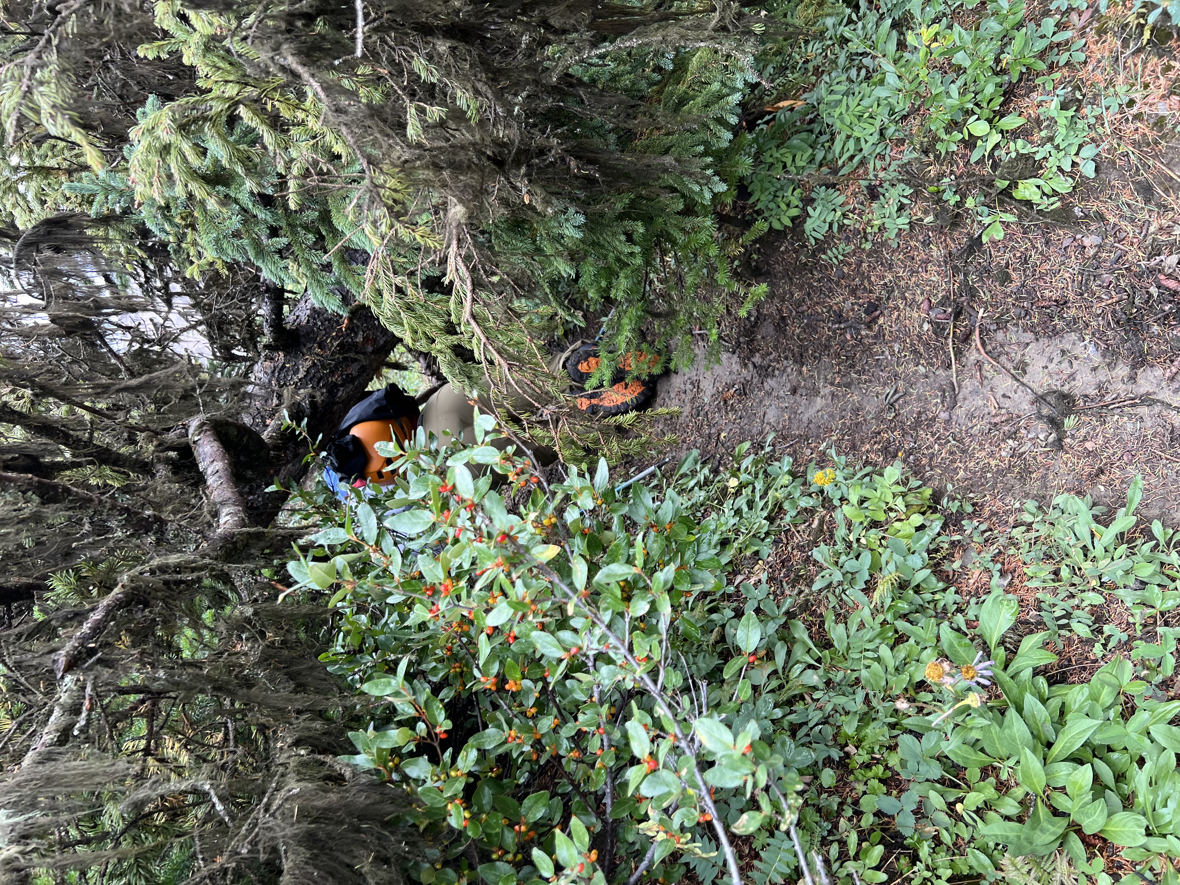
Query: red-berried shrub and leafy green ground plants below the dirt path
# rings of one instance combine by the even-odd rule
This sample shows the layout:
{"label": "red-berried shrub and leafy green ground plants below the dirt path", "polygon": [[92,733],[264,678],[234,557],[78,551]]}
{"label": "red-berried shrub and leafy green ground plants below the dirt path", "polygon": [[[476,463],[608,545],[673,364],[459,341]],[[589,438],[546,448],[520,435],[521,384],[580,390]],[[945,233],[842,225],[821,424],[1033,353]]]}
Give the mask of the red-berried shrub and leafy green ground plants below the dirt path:
{"label": "red-berried shrub and leafy green ground plants below the dirt path", "polygon": [[350,761],[413,796],[419,880],[1175,880],[1180,551],[1138,484],[1009,526],[899,465],[550,484],[489,441],[304,492],[289,565],[334,591],[324,661],[376,703]]}

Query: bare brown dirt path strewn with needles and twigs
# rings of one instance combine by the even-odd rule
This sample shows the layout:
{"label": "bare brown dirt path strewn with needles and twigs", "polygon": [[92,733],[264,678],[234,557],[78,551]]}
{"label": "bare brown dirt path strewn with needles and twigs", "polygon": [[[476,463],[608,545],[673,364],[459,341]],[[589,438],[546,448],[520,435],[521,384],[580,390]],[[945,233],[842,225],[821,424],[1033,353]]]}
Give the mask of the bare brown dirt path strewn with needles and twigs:
{"label": "bare brown dirt path strewn with needles and twigs", "polygon": [[769,295],[727,322],[719,362],[661,379],[656,405],[682,409],[664,430],[706,457],[772,433],[796,464],[900,457],[985,509],[1121,502],[1141,473],[1143,514],[1176,524],[1178,195],[1180,144],[1127,149],[1058,221],[986,245],[931,227],[833,267],[766,237]]}

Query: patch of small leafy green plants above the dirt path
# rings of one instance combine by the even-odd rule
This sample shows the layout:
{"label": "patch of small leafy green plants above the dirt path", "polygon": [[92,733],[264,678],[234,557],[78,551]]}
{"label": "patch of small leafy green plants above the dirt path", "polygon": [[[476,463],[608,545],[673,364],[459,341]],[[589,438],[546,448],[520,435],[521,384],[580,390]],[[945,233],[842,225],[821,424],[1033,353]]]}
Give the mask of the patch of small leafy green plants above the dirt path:
{"label": "patch of small leafy green plants above the dirt path", "polygon": [[[767,52],[767,72],[793,53],[798,81],[812,85],[780,103],[773,120],[742,144],[739,170],[755,210],[778,229],[804,216],[813,243],[847,224],[858,224],[868,242],[878,235],[893,241],[913,222],[913,182],[905,178],[913,160],[937,166],[966,150],[979,164],[972,175],[927,192],[966,214],[986,242],[1001,238],[1003,223],[1016,217],[1001,211],[1001,191],[1011,188],[1016,199],[1043,210],[1055,208],[1077,176],[1093,178],[1101,109],[1066,107],[1071,92],[1061,80],[1084,61],[1084,41],[1057,18],[1027,21],[1021,1],[990,0],[982,14],[981,6],[894,0],[828,11],[789,50]],[[1043,94],[1032,120],[1003,107],[1024,76],[1038,77]],[[1036,176],[1004,181],[1005,168],[1028,162]],[[834,196],[826,184],[833,176],[860,182],[864,208]],[[809,183],[815,188],[808,192]]]}

